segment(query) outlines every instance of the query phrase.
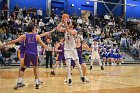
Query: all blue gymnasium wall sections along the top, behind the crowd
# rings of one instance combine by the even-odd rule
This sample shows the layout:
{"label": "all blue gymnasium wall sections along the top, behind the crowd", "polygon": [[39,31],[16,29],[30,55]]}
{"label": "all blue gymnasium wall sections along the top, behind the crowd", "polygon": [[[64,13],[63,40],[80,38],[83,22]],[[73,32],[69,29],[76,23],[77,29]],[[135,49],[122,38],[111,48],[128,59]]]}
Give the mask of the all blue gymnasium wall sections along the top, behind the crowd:
{"label": "all blue gymnasium wall sections along the top, behind the crowd", "polygon": [[[1,1],[1,0],[0,0]],[[89,2],[89,4],[87,3]],[[119,2],[119,0],[104,0],[107,2]],[[0,10],[3,8],[6,0],[3,0],[0,2]],[[122,2],[121,2],[122,3]],[[126,0],[127,4],[136,4],[140,5],[140,0]],[[29,7],[36,7],[37,9],[42,8],[43,11],[46,11],[46,0],[10,0],[10,9],[12,10],[14,6],[18,4],[20,7],[26,6],[26,8]],[[74,4],[74,7],[71,5]],[[56,14],[60,14],[62,10],[65,10],[68,14],[72,15],[74,12],[76,12],[77,15],[81,15],[81,10],[90,10],[94,11],[94,2],[91,2],[89,0],[52,0],[51,4],[52,8],[55,9]],[[113,9],[115,5],[107,4],[109,9]],[[140,18],[140,6],[138,7],[132,7],[127,6],[126,7],[126,17],[135,17]],[[122,16],[123,7],[118,6],[114,12],[114,16]],[[104,16],[106,13],[108,13],[108,10],[104,6],[103,3],[98,3],[98,10],[97,10],[98,16]]]}

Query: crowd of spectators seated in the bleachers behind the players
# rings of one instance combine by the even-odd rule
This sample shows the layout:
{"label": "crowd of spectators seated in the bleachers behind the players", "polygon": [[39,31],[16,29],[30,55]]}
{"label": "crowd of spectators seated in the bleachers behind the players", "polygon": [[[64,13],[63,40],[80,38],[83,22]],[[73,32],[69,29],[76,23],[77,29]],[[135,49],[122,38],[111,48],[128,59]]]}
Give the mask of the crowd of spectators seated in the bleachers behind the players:
{"label": "crowd of spectators seated in the bleachers behind the players", "polygon": [[[18,5],[14,7],[14,11],[8,12],[8,8],[5,6],[3,11],[0,11],[0,40],[13,40],[20,35],[26,33],[26,27],[30,22],[33,22],[37,27],[37,33],[50,31],[59,24],[61,18],[55,14],[46,14],[43,16],[43,11],[40,8],[22,9]],[[76,30],[82,40],[86,41],[89,45],[92,44],[94,39],[99,40],[101,44],[107,45],[119,45],[125,49],[131,49],[134,55],[139,56],[140,40],[139,34],[133,27],[129,29],[125,28],[125,20],[122,17],[108,16],[104,18],[95,17],[95,23],[93,19],[89,17],[89,20],[83,20],[83,18],[70,17],[69,21],[75,20],[78,23]],[[137,22],[139,27],[139,21],[128,20]],[[93,26],[94,24],[94,26]],[[63,33],[55,32],[52,35],[48,35],[43,38],[50,39],[53,44],[59,40],[59,36],[63,36]],[[0,55],[0,58],[2,56]]]}

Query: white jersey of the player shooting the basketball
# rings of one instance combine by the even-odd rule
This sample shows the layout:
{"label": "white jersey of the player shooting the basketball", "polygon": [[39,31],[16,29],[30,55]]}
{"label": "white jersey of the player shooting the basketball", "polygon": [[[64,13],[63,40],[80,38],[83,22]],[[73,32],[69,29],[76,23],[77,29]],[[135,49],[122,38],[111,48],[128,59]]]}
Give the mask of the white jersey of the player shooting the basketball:
{"label": "white jersey of the player shooting the basketball", "polygon": [[76,42],[75,37],[70,33],[65,33],[65,42],[64,42],[64,50],[75,50],[76,49]]}

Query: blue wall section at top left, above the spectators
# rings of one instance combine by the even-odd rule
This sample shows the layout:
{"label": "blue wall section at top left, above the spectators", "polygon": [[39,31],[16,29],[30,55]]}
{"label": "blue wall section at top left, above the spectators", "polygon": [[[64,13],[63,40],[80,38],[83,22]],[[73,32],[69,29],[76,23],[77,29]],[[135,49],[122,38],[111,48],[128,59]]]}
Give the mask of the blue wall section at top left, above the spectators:
{"label": "blue wall section at top left, above the spectators", "polygon": [[10,0],[10,9],[13,10],[16,4],[21,8],[26,6],[26,9],[30,7],[42,8],[43,11],[46,11],[47,6],[46,0]]}

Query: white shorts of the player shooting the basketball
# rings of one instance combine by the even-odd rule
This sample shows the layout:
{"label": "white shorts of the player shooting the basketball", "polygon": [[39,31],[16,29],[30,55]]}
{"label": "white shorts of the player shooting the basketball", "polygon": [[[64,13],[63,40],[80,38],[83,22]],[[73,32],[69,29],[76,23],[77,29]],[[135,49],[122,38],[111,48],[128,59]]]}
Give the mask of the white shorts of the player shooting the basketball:
{"label": "white shorts of the player shooting the basketball", "polygon": [[64,56],[65,56],[65,59],[72,59],[72,60],[79,59],[76,49],[75,50],[64,50]]}

